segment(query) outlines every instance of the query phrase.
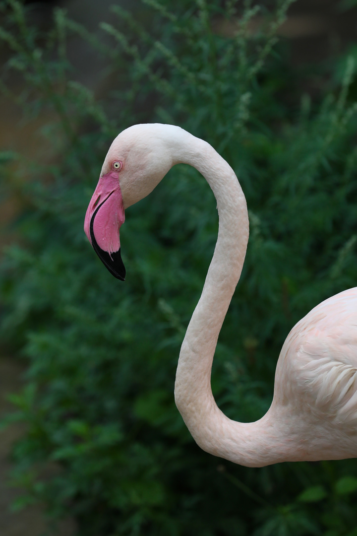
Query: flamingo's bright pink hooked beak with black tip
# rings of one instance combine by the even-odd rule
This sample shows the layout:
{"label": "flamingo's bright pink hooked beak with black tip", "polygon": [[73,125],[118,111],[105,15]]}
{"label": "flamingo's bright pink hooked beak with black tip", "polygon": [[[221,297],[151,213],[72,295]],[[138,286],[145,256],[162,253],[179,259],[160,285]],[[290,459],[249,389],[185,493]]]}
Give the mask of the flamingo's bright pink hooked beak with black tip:
{"label": "flamingo's bright pink hooked beak with black tip", "polygon": [[119,229],[124,224],[123,197],[118,173],[111,171],[100,177],[88,205],[84,230],[94,251],[109,272],[125,280],[125,266],[120,255]]}

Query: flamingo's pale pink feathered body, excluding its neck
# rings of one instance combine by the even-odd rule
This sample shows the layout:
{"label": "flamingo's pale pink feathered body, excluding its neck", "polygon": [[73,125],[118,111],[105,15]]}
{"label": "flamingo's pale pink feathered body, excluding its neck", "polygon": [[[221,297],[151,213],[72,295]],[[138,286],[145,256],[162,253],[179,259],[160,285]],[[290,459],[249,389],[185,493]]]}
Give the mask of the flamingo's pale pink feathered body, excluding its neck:
{"label": "flamingo's pale pink feathered body, excluding its neck", "polygon": [[279,413],[285,426],[290,415],[297,459],[357,457],[357,288],[318,304],[288,334],[268,412]]}

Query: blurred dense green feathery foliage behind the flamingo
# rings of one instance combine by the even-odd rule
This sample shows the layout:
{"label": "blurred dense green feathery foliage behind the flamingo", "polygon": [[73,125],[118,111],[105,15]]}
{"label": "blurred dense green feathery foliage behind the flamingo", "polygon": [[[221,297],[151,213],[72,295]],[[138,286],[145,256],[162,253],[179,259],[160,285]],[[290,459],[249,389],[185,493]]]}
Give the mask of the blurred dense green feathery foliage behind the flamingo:
{"label": "blurred dense green feathery foliage behind the flamingo", "polygon": [[[174,406],[180,343],[218,225],[199,173],[174,167],[127,211],[124,284],[83,233],[105,153],[127,126],[178,124],[222,154],[247,197],[250,239],[212,389],[230,418],[260,418],[291,327],[357,280],[353,54],[320,66],[310,98],[276,37],[291,3],[142,0],[133,13],[115,4],[95,35],[64,10],[44,31],[17,0],[0,3],[11,51],[2,90],[14,98],[6,77],[23,78],[16,99],[30,121],[48,114],[53,149],[33,161],[0,154],[2,195],[24,207],[19,245],[0,266],[2,341],[28,362],[11,417],[27,423],[14,449],[18,505],[70,514],[79,536],[357,534],[355,460],[236,466],[201,451]],[[257,15],[265,22],[253,32]],[[75,79],[74,38],[103,59],[100,96]]]}

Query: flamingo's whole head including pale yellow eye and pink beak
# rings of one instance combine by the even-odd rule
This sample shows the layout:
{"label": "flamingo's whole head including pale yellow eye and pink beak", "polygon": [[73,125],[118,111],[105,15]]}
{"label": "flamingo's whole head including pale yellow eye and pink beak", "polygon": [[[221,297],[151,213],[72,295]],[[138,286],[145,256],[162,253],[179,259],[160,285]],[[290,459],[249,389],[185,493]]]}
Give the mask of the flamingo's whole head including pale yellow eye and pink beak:
{"label": "flamingo's whole head including pale yellow eye and pink beak", "polygon": [[125,209],[146,197],[176,163],[172,149],[179,131],[184,132],[173,125],[131,126],[117,136],[105,157],[84,229],[105,267],[122,281],[126,272],[119,229]]}

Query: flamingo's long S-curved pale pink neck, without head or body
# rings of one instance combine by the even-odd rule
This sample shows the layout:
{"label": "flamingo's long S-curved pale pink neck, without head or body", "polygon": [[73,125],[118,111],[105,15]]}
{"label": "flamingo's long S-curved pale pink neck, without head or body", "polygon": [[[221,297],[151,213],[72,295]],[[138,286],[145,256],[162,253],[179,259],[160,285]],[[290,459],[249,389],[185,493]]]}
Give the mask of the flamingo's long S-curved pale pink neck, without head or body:
{"label": "flamingo's long S-curved pale pink neck, without head or body", "polygon": [[210,385],[218,335],[247,249],[249,221],[244,193],[232,168],[206,142],[190,136],[178,160],[194,166],[209,183],[217,200],[219,230],[202,295],[181,346],[176,405],[203,450],[241,465],[274,463],[266,444],[269,423],[264,418],[256,423],[228,419],[219,410]]}

